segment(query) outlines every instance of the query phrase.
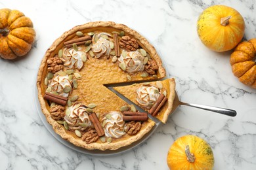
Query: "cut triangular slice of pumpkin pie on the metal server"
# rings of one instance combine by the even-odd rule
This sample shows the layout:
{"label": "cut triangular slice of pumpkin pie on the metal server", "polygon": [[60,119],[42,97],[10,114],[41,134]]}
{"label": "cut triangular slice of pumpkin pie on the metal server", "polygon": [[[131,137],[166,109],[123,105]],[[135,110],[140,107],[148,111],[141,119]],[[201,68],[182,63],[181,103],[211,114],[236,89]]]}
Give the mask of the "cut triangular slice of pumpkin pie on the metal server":
{"label": "cut triangular slice of pumpkin pie on the metal server", "polygon": [[[115,87],[114,90],[139,105],[142,109],[150,112],[165,124],[173,107],[175,80],[174,78],[168,78],[155,82],[136,83],[129,86]],[[161,95],[164,95],[166,100],[164,101],[164,98],[161,100],[162,106],[160,105]],[[154,107],[157,108],[157,105],[160,105],[159,109],[152,110]]]}

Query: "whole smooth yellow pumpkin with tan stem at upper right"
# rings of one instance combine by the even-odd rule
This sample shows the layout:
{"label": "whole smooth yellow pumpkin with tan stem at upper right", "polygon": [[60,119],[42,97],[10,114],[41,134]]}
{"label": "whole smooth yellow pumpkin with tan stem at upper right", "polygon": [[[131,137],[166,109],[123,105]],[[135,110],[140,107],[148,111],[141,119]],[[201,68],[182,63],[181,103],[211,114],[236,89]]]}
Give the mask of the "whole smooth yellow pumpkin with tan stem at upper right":
{"label": "whole smooth yellow pumpkin with tan stem at upper right", "polygon": [[217,52],[234,48],[244,36],[244,18],[231,7],[214,5],[198,18],[198,36],[205,46]]}

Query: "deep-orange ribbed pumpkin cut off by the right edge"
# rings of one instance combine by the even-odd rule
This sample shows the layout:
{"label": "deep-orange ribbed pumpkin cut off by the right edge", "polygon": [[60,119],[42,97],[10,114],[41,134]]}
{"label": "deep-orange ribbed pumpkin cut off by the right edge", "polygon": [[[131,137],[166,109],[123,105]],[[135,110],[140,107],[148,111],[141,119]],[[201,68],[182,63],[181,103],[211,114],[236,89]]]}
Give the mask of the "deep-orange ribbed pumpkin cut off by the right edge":
{"label": "deep-orange ribbed pumpkin cut off by the right edge", "polygon": [[256,88],[256,39],[243,41],[236,46],[230,57],[232,72],[240,82]]}

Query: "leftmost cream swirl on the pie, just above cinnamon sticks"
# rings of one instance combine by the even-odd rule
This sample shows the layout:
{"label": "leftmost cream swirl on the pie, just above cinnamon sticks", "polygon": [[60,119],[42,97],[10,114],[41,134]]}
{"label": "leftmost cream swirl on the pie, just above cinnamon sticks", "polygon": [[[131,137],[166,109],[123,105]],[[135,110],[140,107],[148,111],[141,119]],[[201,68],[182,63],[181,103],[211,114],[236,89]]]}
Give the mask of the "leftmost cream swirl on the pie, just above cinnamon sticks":
{"label": "leftmost cream swirl on the pie, just above cinnamon sticks", "polygon": [[[55,74],[54,77],[50,80],[49,85],[51,87],[52,92],[57,92],[59,95],[63,97],[68,97],[72,92],[73,83],[68,79],[68,75],[60,76]],[[65,93],[64,88],[70,87],[70,92]]]}

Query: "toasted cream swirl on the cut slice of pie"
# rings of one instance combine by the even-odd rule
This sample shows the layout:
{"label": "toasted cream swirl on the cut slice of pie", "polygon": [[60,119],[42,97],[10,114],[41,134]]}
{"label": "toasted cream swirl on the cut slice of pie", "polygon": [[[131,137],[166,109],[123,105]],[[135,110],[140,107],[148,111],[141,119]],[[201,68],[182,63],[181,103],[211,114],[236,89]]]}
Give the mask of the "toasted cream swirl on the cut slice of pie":
{"label": "toasted cream swirl on the cut slice of pie", "polygon": [[137,102],[145,109],[150,109],[160,96],[160,90],[155,86],[140,86],[136,91]]}

